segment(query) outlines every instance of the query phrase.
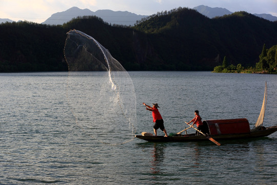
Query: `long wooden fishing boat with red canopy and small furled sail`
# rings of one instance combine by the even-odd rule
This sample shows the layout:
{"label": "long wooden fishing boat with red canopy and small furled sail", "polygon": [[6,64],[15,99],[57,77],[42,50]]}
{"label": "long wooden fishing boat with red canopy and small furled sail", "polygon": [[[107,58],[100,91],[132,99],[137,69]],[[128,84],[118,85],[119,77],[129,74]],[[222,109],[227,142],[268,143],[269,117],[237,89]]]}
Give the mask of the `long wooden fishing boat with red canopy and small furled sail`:
{"label": "long wooden fishing boat with red canopy and small furled sail", "polygon": [[205,120],[204,135],[186,134],[176,136],[142,136],[136,135],[136,138],[140,138],[151,142],[186,142],[186,141],[207,141],[207,137],[214,140],[223,139],[249,139],[268,136],[277,131],[277,125],[264,127],[264,114],[266,108],[267,99],[267,86],[265,85],[264,101],[261,108],[261,112],[255,126],[250,130],[249,122],[246,118],[241,119],[222,119],[222,120]]}

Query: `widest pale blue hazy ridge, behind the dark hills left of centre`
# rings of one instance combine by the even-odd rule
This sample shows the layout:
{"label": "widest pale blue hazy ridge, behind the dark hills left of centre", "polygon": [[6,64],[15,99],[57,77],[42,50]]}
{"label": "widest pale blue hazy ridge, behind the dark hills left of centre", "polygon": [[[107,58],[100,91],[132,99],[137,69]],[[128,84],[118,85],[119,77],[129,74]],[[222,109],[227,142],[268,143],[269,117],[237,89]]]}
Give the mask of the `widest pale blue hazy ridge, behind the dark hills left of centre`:
{"label": "widest pale blue hazy ridge, behind the dark hills left of centre", "polygon": [[141,20],[143,17],[147,17],[147,15],[137,15],[128,11],[97,10],[96,12],[93,12],[89,9],[72,7],[66,11],[52,14],[42,24],[63,25],[64,23],[72,20],[74,17],[86,15],[101,17],[104,22],[110,23],[111,25],[117,24],[127,26],[133,26],[136,21]]}

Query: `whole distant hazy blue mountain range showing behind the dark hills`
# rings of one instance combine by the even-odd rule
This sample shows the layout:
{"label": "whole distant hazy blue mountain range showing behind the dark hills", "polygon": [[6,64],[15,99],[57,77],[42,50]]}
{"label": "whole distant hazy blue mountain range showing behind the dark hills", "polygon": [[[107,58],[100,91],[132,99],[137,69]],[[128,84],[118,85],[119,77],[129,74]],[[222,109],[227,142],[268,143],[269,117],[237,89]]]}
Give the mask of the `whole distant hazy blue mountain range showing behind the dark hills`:
{"label": "whole distant hazy blue mountain range showing behind the dark hills", "polygon": [[[194,7],[196,11],[199,13],[209,17],[214,18],[216,16],[223,16],[232,14],[233,12],[227,10],[226,8],[211,8],[208,6],[200,5],[197,7]],[[101,17],[104,22],[107,22],[111,25],[131,25],[133,26],[137,21],[140,21],[142,18],[147,17],[148,15],[137,15],[135,13],[131,13],[128,11],[112,11],[112,10],[97,10],[95,12],[89,10],[89,9],[80,9],[77,7],[72,7],[66,11],[63,12],[57,12],[52,14],[45,22],[42,24],[48,24],[48,25],[63,25],[64,23],[69,22],[72,20],[72,18],[77,16],[97,16]],[[270,14],[253,14],[258,17],[262,17],[269,21],[277,21],[276,16],[272,16]],[[5,22],[13,22],[12,20],[8,18],[0,18],[0,23]]]}

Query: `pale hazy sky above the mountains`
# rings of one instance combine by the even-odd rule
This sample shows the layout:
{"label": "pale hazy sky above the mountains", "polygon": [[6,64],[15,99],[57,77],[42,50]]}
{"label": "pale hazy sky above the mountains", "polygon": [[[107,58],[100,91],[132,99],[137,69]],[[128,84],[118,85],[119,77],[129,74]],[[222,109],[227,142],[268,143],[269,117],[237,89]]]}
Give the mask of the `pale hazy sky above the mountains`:
{"label": "pale hazy sky above the mountains", "polygon": [[0,0],[0,18],[42,23],[53,13],[73,6],[91,11],[110,9],[141,15],[199,5],[226,8],[231,12],[268,13],[277,16],[277,0]]}

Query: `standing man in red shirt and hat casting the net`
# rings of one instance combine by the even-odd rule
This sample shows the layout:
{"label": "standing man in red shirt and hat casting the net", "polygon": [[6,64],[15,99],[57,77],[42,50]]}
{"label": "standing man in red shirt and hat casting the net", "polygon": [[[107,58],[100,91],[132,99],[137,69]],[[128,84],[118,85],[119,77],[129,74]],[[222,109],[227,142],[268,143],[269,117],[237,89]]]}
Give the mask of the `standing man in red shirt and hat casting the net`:
{"label": "standing man in red shirt and hat casting the net", "polygon": [[155,123],[153,126],[155,136],[157,136],[157,129],[160,128],[165,133],[165,137],[167,137],[167,133],[164,126],[164,120],[159,110],[157,109],[157,107],[159,107],[157,103],[152,103],[153,104],[152,107],[150,107],[149,105],[146,105],[145,103],[143,104],[146,106],[146,110],[152,111],[153,122]]}

